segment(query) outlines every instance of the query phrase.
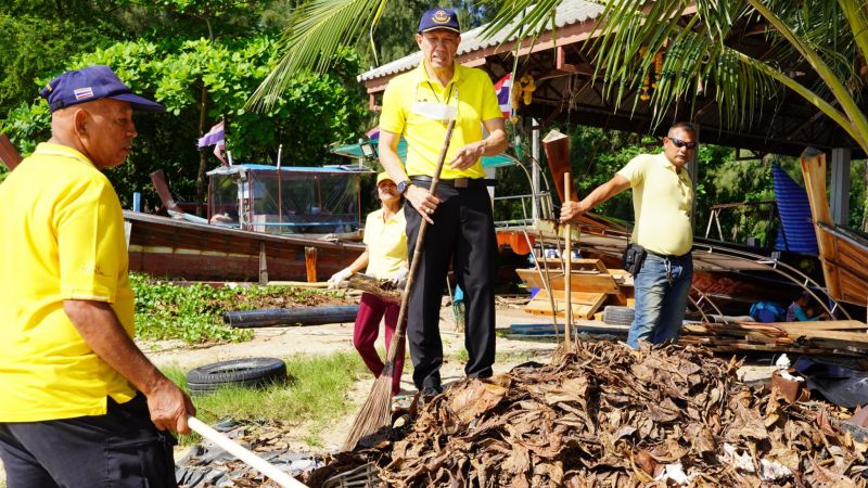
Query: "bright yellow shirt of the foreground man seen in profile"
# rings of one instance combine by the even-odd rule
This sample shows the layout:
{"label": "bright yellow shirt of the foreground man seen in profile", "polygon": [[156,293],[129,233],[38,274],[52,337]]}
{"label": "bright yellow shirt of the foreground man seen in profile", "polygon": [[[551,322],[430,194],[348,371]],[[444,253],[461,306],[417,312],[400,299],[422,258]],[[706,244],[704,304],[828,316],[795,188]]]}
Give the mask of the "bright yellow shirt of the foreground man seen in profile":
{"label": "bright yellow shirt of the foreground man seen in profile", "polygon": [[42,143],[0,184],[0,422],[100,415],[135,390],[85,343],[66,299],[111,304],[132,336],[124,215],[81,153]]}

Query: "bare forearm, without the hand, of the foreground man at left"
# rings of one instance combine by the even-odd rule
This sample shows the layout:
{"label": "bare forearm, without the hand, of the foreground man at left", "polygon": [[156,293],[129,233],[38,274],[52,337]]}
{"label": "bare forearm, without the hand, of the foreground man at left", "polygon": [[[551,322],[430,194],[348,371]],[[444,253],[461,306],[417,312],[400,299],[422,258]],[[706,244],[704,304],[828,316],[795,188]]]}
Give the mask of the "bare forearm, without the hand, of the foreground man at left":
{"label": "bare forearm, without the hand, of the foreground man at left", "polygon": [[127,335],[108,304],[66,300],[63,308],[88,347],[145,396],[168,381]]}

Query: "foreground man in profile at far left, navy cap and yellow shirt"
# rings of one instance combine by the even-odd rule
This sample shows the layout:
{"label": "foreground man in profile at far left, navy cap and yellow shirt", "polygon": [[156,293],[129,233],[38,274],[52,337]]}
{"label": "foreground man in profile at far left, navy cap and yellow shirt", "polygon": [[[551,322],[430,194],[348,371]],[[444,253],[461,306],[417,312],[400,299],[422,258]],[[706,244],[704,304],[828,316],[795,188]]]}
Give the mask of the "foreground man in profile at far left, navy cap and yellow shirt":
{"label": "foreground man in profile at far left, navy cap and yellow shirt", "polygon": [[10,487],[177,486],[190,399],[132,342],[124,216],[101,172],[132,111],[108,66],[52,79],[51,139],[0,184],[0,458]]}

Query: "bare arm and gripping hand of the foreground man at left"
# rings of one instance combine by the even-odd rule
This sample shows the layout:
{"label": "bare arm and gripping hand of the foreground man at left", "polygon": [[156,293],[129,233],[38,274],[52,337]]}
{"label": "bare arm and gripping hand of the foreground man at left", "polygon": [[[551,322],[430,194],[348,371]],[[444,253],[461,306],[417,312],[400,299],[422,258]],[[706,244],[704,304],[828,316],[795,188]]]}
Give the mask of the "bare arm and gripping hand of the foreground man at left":
{"label": "bare arm and gripping hand of the foreground man at left", "polygon": [[88,347],[144,394],[151,421],[156,428],[190,433],[187,415],[196,412],[190,397],[161,373],[136,346],[108,304],[65,300],[63,310]]}

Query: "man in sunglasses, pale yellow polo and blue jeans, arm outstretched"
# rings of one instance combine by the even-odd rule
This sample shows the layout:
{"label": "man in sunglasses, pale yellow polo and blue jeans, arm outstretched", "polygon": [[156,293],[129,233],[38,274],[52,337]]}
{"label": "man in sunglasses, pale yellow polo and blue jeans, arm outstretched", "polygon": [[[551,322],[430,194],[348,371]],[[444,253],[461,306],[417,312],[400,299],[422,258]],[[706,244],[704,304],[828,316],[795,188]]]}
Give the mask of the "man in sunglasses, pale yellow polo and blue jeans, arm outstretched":
{"label": "man in sunglasses, pale yellow polo and blue jeans, arm outstretched", "polygon": [[562,222],[576,221],[596,205],[633,188],[636,223],[630,244],[639,262],[634,273],[636,316],[627,345],[634,349],[639,348],[640,341],[678,341],[681,332],[693,278],[693,184],[685,165],[695,149],[693,126],[675,124],[663,138],[662,153],[634,157],[582,202],[567,202],[561,207]]}

